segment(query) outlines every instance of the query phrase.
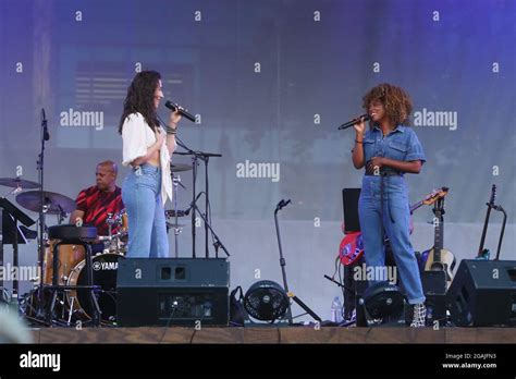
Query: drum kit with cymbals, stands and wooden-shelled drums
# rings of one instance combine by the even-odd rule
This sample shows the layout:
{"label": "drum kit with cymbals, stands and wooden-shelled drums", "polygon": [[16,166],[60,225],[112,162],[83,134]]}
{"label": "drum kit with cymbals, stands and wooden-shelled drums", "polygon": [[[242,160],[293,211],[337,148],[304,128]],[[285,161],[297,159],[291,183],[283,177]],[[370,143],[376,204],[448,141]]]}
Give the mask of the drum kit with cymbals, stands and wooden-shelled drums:
{"label": "drum kit with cymbals, stands and wooden-shelled drums", "polygon": [[[173,228],[175,235],[175,255],[177,257],[177,235],[181,233],[183,224],[177,223],[179,217],[184,217],[189,213],[189,210],[177,209],[177,186],[181,184],[181,179],[176,172],[192,170],[188,164],[171,164],[171,171],[174,185],[174,210],[167,210],[165,218],[175,218],[175,222],[167,221],[167,227]],[[67,196],[53,193],[44,192],[41,196],[40,191],[26,191],[38,188],[38,183],[22,180],[20,178],[0,178],[0,185],[15,188],[7,196],[17,194],[15,196],[16,203],[30,211],[39,212],[41,209],[46,215],[56,215],[58,223],[61,224],[66,218],[67,213],[75,210],[76,205],[73,199]],[[183,186],[184,187],[184,186]],[[5,196],[5,197],[7,197]],[[42,201],[42,203],[41,203]],[[119,259],[123,258],[126,253],[127,235],[128,235],[128,220],[125,209],[116,213],[108,213],[106,218],[108,224],[108,235],[99,235],[97,242],[103,246],[102,252],[97,253],[91,257],[93,284],[100,288],[97,293],[97,301],[101,310],[101,323],[105,326],[114,326],[116,320],[116,271]],[[113,233],[113,231],[115,231]],[[37,236],[37,232],[30,231],[33,237]],[[38,321],[38,303],[48,302],[48,295],[40,294],[42,285],[51,285],[53,279],[53,247],[59,243],[59,240],[50,240],[44,234],[42,243],[45,245],[45,254],[42,261],[39,262],[40,278],[35,278],[34,282],[39,282],[40,285],[35,285],[34,290],[27,293],[20,301],[21,313],[29,320]],[[59,245],[59,269],[58,269],[58,284],[64,285],[66,289],[62,295],[58,296],[57,313],[59,317],[54,323],[62,326],[75,325],[78,320],[86,322],[91,320],[94,309],[89,302],[89,292],[84,289],[73,289],[73,286],[82,286],[86,284],[86,254],[82,245]]]}

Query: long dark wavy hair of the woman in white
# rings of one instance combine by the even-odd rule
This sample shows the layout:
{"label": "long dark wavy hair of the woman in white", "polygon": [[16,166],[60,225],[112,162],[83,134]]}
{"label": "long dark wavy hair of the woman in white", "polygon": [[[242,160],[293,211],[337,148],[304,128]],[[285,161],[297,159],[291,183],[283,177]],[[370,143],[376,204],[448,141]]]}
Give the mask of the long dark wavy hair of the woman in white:
{"label": "long dark wavy hair of the woman in white", "polygon": [[139,112],[144,117],[152,132],[159,126],[158,115],[153,106],[155,90],[161,74],[157,71],[142,71],[136,74],[127,88],[124,100],[124,110],[120,118],[119,133],[122,134],[124,121],[128,114]]}

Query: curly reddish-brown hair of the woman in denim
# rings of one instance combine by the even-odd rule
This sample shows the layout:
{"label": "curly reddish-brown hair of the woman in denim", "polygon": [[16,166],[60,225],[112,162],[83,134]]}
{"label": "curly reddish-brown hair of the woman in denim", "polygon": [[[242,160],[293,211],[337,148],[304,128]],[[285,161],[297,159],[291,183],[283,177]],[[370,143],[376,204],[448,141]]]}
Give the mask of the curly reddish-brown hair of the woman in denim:
{"label": "curly reddish-brown hair of the woman in denim", "polygon": [[369,105],[372,101],[378,100],[385,107],[386,117],[391,122],[395,125],[410,125],[408,117],[413,111],[413,100],[402,88],[383,83],[370,89],[363,100],[366,111],[369,110]]}

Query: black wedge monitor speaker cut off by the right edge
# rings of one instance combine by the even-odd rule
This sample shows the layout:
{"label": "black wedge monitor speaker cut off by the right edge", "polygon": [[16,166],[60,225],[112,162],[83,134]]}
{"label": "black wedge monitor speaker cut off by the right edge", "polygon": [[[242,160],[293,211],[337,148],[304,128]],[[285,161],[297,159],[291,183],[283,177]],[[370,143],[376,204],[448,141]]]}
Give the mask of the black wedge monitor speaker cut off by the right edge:
{"label": "black wedge monitor speaker cut off by the right edge", "polygon": [[460,261],[446,294],[459,327],[516,327],[516,261]]}

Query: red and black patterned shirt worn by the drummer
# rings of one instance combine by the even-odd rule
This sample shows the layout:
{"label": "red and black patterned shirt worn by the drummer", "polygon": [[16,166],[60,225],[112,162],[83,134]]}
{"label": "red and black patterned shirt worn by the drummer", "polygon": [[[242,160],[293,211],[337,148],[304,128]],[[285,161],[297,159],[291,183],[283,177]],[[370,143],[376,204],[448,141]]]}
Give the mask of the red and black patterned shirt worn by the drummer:
{"label": "red and black patterned shirt worn by the drummer", "polygon": [[[122,190],[118,186],[113,192],[103,192],[94,185],[81,191],[75,203],[77,210],[84,211],[83,223],[97,227],[98,235],[108,235],[108,213],[114,215],[124,209]],[[118,231],[115,227],[113,225],[112,233]]]}

